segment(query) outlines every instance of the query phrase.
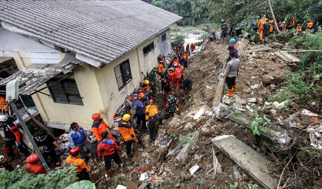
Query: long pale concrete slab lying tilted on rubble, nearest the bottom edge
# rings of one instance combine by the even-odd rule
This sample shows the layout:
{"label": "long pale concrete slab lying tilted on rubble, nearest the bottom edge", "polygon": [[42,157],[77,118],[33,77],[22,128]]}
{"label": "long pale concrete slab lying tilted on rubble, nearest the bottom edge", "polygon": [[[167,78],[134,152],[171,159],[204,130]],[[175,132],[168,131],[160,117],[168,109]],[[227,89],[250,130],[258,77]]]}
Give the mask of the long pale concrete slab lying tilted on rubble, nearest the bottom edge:
{"label": "long pale concrete slab lying tilted on rubble, nearest the bottom edge", "polygon": [[271,162],[267,158],[233,135],[217,136],[212,143],[263,187],[276,188],[277,179],[270,175],[268,164]]}

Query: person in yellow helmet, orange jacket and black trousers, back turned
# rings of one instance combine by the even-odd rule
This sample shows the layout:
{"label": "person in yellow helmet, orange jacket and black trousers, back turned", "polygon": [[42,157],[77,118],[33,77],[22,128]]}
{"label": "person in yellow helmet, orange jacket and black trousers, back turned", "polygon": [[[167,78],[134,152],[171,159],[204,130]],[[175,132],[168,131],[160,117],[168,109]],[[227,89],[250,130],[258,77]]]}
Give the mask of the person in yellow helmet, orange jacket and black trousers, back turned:
{"label": "person in yellow helmet, orange jacket and black trousers, back turned", "polygon": [[142,144],[142,141],[138,138],[136,138],[134,129],[132,125],[130,125],[130,119],[131,115],[129,114],[124,114],[122,117],[122,120],[120,121],[118,128],[120,131],[120,134],[124,140],[124,144],[126,146],[126,156],[125,159],[132,159],[132,154],[131,154],[131,148],[132,148],[132,143],[138,143]]}

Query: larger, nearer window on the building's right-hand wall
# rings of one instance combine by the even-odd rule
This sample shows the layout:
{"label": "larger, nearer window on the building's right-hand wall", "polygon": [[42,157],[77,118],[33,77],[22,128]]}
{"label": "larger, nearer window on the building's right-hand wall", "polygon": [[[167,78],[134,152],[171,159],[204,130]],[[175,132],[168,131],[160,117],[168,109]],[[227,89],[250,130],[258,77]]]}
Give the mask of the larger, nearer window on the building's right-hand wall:
{"label": "larger, nearer window on the building's right-hand wall", "polygon": [[115,78],[119,90],[121,90],[132,79],[131,67],[129,59],[123,61],[114,68]]}

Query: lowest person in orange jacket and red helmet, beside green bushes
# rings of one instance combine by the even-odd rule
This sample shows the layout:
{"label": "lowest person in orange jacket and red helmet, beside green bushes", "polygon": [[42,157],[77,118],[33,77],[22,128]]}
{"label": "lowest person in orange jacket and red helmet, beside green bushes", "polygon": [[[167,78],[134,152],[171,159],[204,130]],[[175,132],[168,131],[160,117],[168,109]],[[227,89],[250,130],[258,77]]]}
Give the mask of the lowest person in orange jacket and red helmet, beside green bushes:
{"label": "lowest person in orange jacket and red helmet, beside green bushes", "polygon": [[78,157],[79,151],[81,151],[81,148],[74,147],[69,150],[70,156],[66,158],[66,164],[75,164],[76,165],[76,176],[79,180],[90,180],[90,174],[91,169],[87,166],[84,159]]}

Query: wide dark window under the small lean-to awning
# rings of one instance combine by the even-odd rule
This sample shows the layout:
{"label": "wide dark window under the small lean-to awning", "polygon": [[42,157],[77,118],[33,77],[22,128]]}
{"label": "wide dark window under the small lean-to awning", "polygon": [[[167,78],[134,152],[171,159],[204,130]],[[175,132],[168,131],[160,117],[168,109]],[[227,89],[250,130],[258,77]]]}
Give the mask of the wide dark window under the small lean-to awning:
{"label": "wide dark window under the small lean-to awning", "polygon": [[[49,92],[54,102],[64,104],[83,105],[74,79],[64,79],[57,82],[59,78],[53,78],[47,82]],[[57,82],[57,83],[55,83]]]}

